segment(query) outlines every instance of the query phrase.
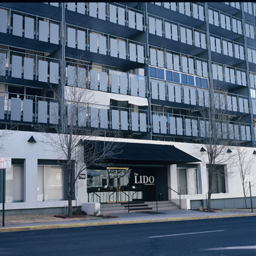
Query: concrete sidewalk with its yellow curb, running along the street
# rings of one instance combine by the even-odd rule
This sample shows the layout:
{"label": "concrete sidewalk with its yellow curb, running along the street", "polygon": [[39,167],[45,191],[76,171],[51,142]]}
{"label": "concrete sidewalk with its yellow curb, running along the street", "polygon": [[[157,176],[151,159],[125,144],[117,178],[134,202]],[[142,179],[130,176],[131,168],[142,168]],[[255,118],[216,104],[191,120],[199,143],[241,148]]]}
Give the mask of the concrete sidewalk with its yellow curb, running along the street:
{"label": "concrete sidewalk with its yellow curb, running along the street", "polygon": [[56,222],[38,222],[38,223],[23,223],[23,224],[5,224],[5,227],[0,223],[0,233],[11,231],[26,231],[36,229],[56,229],[56,228],[81,228],[87,226],[103,226],[116,224],[136,224],[149,222],[167,222],[179,220],[199,220],[199,219],[218,219],[230,217],[251,217],[256,216],[256,213],[251,211],[223,211],[217,213],[208,213],[203,211],[191,211],[186,209],[175,209],[166,211],[144,211],[130,213],[116,213],[116,219],[94,219],[94,220],[76,220],[58,221]]}

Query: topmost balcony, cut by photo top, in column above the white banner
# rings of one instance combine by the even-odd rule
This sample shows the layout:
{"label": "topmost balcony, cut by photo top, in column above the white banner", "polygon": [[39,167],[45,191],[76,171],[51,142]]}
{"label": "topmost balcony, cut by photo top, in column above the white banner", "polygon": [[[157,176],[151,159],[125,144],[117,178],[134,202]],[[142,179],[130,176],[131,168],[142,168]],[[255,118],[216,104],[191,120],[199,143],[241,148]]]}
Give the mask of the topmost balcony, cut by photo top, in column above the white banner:
{"label": "topmost balcony, cut by photo top, in column above the white banner", "polygon": [[[65,18],[72,24],[131,37],[144,31],[144,12],[119,3],[65,3]],[[111,29],[110,29],[111,28]]]}

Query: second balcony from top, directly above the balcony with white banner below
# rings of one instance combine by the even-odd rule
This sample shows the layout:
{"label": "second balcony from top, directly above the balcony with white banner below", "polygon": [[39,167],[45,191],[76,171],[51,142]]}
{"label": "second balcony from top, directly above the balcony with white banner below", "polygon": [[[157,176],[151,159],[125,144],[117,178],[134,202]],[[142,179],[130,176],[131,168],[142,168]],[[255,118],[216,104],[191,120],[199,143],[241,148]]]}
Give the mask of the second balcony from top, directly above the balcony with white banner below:
{"label": "second balcony from top, directly above the balcony with white banner below", "polygon": [[71,25],[67,25],[66,29],[67,55],[77,56],[80,51],[87,60],[131,69],[146,63],[144,43]]}

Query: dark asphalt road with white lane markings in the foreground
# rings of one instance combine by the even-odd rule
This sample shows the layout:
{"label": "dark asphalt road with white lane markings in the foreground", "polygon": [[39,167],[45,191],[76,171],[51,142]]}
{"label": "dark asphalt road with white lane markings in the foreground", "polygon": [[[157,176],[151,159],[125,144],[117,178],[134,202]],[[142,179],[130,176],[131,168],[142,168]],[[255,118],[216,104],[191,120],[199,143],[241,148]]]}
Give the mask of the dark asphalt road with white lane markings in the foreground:
{"label": "dark asphalt road with white lane markings in the foreground", "polygon": [[256,217],[0,233],[0,255],[256,255]]}

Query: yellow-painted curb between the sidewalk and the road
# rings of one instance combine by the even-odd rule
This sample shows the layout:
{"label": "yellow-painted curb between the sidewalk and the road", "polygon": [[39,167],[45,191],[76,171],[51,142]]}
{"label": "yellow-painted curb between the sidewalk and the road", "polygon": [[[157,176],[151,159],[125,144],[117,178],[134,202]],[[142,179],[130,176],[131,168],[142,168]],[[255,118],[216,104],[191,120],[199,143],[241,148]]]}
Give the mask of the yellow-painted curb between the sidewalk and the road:
{"label": "yellow-painted curb between the sidewalk and the road", "polygon": [[144,220],[114,220],[104,222],[90,222],[90,223],[76,223],[76,224],[52,224],[52,225],[38,225],[26,226],[15,228],[0,228],[0,233],[29,231],[29,230],[42,230],[42,229],[59,229],[59,228],[83,228],[89,226],[107,226],[107,225],[120,225],[120,224],[140,224],[140,223],[153,223],[153,222],[171,222],[180,220],[203,220],[203,219],[222,219],[222,218],[235,218],[235,217],[253,217],[256,213],[244,213],[237,215],[214,215],[214,216],[197,216],[197,217],[177,217],[177,218],[164,218],[164,219],[144,219]]}

